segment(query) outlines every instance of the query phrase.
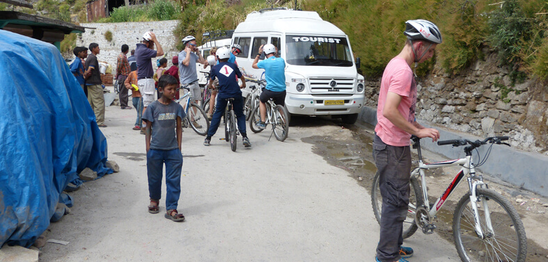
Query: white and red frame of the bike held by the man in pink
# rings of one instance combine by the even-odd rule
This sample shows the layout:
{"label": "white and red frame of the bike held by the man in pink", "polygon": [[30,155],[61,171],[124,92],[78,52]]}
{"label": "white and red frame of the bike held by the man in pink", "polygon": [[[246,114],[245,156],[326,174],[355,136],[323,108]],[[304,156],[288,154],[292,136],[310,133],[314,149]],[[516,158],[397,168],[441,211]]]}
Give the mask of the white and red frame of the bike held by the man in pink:
{"label": "white and red frame of the bike held by the man in pink", "polygon": [[[484,238],[483,230],[480,227],[480,221],[478,216],[478,206],[477,206],[478,198],[476,197],[476,188],[478,186],[483,187],[484,185],[485,186],[487,185],[483,183],[483,177],[481,176],[476,177],[476,171],[473,166],[471,154],[469,156],[466,156],[465,158],[426,164],[426,163],[423,163],[420,142],[417,141],[415,145],[418,152],[418,167],[416,167],[411,172],[411,177],[418,177],[418,176],[421,177],[421,190],[423,191],[424,208],[428,210],[430,217],[434,217],[438,213],[439,209],[441,209],[441,207],[444,206],[448,197],[452,195],[455,188],[457,188],[457,186],[459,186],[460,183],[464,181],[463,178],[467,177],[466,180],[469,186],[469,197],[470,197],[470,202],[473,209],[473,220],[476,228],[476,234],[478,234],[479,238]],[[437,169],[442,167],[451,167],[455,165],[461,165],[462,168],[460,169],[459,172],[457,172],[457,175],[455,176],[453,181],[451,181],[451,183],[446,188],[444,193],[442,193],[441,196],[438,197],[438,199],[436,200],[432,208],[430,208],[430,202],[428,201],[428,190],[426,187],[426,176],[425,176],[424,170]],[[491,234],[494,234],[490,213],[489,213],[489,207],[487,206],[487,202],[486,202],[487,200],[485,199],[485,197],[483,197],[482,201],[483,201],[482,202],[483,208],[485,209],[485,222],[486,222],[487,230],[490,231]],[[409,205],[412,206],[412,204],[409,204]],[[412,208],[415,208],[416,210],[417,207],[412,206]],[[414,211],[409,210],[409,212],[415,214]]]}

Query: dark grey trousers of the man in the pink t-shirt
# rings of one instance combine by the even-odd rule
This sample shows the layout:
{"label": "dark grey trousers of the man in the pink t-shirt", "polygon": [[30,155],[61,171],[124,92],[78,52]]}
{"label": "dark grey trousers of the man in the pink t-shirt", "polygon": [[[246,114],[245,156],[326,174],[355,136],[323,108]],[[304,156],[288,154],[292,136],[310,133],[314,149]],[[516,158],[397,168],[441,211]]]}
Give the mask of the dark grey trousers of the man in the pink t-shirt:
{"label": "dark grey trousers of the man in the pink t-shirt", "polygon": [[382,262],[400,260],[403,243],[403,221],[409,204],[409,175],[411,173],[411,149],[386,145],[375,135],[373,159],[379,172],[379,188],[382,195],[382,212],[377,259]]}

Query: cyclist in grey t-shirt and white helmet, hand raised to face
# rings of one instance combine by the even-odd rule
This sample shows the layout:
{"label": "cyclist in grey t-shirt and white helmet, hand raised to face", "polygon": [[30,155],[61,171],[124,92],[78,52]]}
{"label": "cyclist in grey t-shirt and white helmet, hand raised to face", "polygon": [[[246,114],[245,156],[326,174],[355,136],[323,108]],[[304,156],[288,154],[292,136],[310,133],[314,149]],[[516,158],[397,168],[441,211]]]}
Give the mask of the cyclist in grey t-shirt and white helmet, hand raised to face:
{"label": "cyclist in grey t-shirt and white helmet, hand raised to face", "polygon": [[[179,53],[179,80],[180,84],[187,86],[190,89],[192,97],[194,97],[194,103],[200,104],[199,101],[202,99],[202,90],[200,85],[198,85],[198,72],[196,72],[196,63],[205,64],[205,59],[203,58],[198,47],[196,47],[196,38],[192,35],[187,35],[182,39],[182,44],[185,45],[185,49]],[[190,121],[194,122],[194,126],[199,126],[195,120],[191,119]]]}

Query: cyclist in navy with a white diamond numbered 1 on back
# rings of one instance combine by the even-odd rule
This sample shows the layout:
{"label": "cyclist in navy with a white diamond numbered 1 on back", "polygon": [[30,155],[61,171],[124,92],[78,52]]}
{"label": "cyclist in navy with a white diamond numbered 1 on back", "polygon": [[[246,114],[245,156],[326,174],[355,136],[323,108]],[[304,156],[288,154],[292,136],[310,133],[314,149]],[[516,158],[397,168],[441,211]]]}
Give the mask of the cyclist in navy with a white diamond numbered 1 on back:
{"label": "cyclist in navy with a white diamond numbered 1 on back", "polygon": [[[203,145],[208,146],[211,142],[211,137],[217,132],[219,124],[221,122],[221,116],[224,114],[224,109],[228,101],[226,99],[233,98],[234,113],[236,115],[236,122],[240,134],[242,134],[242,140],[245,147],[251,147],[251,142],[247,138],[246,134],[246,118],[244,115],[244,98],[242,97],[242,88],[246,87],[246,81],[240,69],[234,64],[228,62],[230,58],[230,49],[220,48],[217,50],[217,58],[219,58],[219,64],[215,65],[211,69],[210,81],[208,87],[212,88],[213,81],[219,79],[219,86],[217,89],[217,105],[215,107],[215,113],[211,120],[210,129],[208,130],[208,136],[203,141]],[[242,85],[238,85],[236,77],[242,80]],[[228,120],[226,120],[228,121]]]}

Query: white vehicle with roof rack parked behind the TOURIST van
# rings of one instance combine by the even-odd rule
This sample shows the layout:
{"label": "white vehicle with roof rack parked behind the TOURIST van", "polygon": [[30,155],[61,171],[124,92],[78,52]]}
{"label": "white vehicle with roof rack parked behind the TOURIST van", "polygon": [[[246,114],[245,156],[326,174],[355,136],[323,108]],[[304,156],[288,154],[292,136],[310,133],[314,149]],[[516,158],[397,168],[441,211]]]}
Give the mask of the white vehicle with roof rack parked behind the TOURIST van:
{"label": "white vehicle with roof rack parked behind the TOURIST van", "polygon": [[[234,30],[221,30],[205,32],[202,35],[202,45],[198,47],[204,59],[208,59],[210,50],[213,47],[230,47],[230,43]],[[203,68],[201,63],[196,63],[196,72],[198,73],[198,84],[205,86],[208,83],[208,79],[205,74],[201,72],[210,72],[211,67]]]}

